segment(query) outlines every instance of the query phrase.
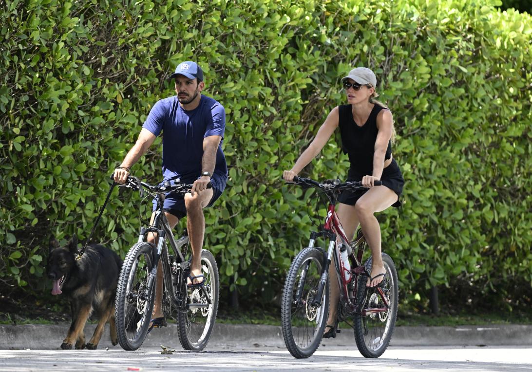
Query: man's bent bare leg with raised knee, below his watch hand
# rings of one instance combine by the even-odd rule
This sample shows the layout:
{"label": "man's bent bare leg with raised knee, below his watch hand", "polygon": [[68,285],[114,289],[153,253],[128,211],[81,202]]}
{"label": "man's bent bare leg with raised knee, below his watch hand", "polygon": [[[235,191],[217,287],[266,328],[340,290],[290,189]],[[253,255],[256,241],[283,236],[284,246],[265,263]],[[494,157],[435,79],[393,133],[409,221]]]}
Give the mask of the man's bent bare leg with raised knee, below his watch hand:
{"label": "man's bent bare leg with raised knee, below his watch hand", "polygon": [[[194,277],[202,274],[201,270],[201,250],[203,247],[203,235],[205,234],[205,208],[213,196],[212,189],[206,189],[202,192],[196,192],[194,196],[190,193],[185,194],[185,207],[187,208],[187,230],[190,238],[190,247],[192,248],[192,263],[190,263],[190,276]],[[194,281],[188,279],[188,284],[202,283],[203,279],[194,278]]]}

